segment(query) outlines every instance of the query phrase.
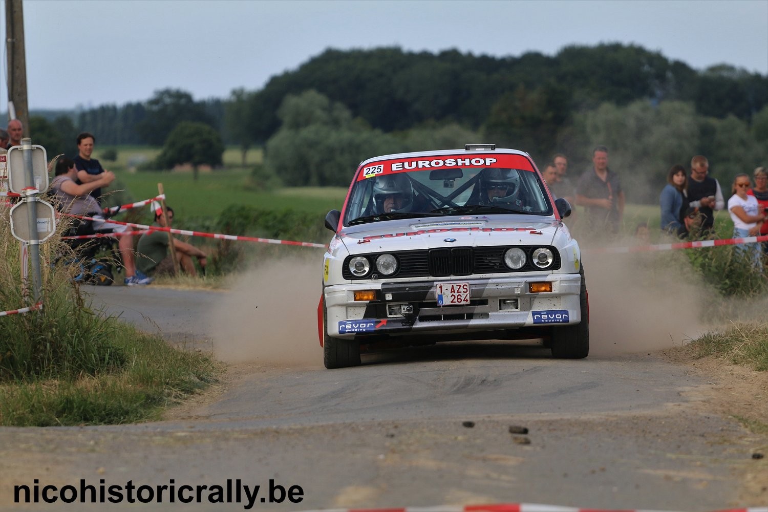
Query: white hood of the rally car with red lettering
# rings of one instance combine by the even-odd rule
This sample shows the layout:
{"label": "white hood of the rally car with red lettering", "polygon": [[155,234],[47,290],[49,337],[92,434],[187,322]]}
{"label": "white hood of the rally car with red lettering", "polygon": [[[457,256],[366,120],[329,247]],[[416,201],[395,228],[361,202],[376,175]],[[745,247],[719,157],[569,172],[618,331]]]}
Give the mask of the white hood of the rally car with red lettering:
{"label": "white hood of the rally car with red lettering", "polygon": [[561,222],[554,217],[494,215],[385,220],[345,227],[349,254],[435,247],[551,245]]}

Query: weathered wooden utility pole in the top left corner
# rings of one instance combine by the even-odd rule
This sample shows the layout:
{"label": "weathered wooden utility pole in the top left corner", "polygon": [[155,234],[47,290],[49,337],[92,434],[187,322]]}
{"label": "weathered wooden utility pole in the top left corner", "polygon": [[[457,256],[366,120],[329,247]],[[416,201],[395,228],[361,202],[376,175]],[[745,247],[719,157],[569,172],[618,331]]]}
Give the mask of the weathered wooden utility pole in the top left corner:
{"label": "weathered wooden utility pole in the top left corner", "polygon": [[8,120],[18,119],[29,136],[27,58],[24,48],[22,0],[5,0],[5,55],[8,58]]}

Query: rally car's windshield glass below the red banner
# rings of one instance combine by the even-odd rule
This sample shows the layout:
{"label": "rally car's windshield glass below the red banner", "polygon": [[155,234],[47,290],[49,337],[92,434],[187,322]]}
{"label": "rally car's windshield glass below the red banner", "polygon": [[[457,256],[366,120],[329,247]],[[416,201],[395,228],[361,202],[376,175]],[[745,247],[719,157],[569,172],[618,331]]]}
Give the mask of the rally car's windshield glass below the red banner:
{"label": "rally car's windshield glass below the red banner", "polygon": [[553,210],[544,184],[531,170],[452,167],[384,173],[373,166],[360,173],[344,224],[475,213],[547,216]]}

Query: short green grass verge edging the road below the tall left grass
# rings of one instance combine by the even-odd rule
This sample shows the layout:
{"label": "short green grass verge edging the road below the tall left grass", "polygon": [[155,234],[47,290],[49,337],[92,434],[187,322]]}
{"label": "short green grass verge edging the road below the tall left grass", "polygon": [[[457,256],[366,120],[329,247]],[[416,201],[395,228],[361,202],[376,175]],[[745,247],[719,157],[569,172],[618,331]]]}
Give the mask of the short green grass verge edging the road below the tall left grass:
{"label": "short green grass verge edging the road below the tall left grass", "polygon": [[105,319],[122,364],[111,371],[16,379],[0,385],[0,424],[18,427],[121,424],[159,419],[169,405],[215,382],[210,358]]}

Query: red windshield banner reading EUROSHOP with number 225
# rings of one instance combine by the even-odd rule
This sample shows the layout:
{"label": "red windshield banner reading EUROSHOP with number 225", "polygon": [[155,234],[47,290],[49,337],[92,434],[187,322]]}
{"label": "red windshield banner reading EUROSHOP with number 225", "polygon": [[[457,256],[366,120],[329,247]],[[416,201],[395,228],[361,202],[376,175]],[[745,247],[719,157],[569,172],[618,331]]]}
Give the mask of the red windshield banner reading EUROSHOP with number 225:
{"label": "red windshield banner reading EUROSHOP with number 225", "polygon": [[357,180],[386,176],[386,174],[408,173],[419,170],[461,169],[477,167],[497,167],[501,169],[521,169],[533,172],[533,166],[528,158],[518,154],[458,154],[437,155],[429,157],[396,158],[370,162],[362,167]]}

